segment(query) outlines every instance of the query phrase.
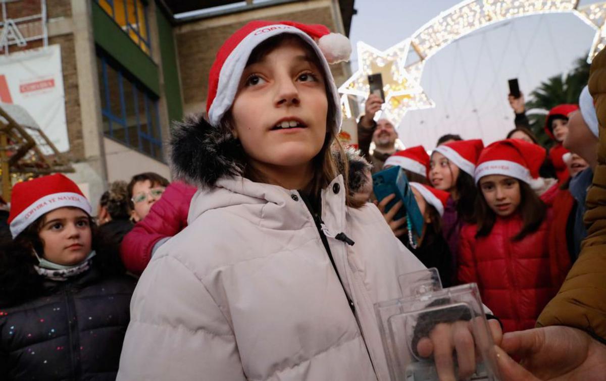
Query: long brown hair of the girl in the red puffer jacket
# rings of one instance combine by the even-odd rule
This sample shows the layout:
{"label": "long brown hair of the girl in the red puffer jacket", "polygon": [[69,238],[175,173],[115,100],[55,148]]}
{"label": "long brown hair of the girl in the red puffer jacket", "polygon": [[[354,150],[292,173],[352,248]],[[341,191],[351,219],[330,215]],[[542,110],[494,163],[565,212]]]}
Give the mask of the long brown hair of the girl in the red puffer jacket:
{"label": "long brown hair of the girl in the red puffer jacket", "polygon": [[[530,185],[518,179],[516,181],[520,185],[521,201],[514,213],[521,214],[522,228],[518,234],[511,238],[514,242],[522,240],[528,234],[538,230],[547,213],[547,207],[530,188]],[[478,197],[476,197],[476,217],[478,224],[476,238],[488,236],[496,221],[496,213],[488,206],[481,190],[478,191]]]}

